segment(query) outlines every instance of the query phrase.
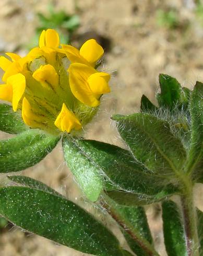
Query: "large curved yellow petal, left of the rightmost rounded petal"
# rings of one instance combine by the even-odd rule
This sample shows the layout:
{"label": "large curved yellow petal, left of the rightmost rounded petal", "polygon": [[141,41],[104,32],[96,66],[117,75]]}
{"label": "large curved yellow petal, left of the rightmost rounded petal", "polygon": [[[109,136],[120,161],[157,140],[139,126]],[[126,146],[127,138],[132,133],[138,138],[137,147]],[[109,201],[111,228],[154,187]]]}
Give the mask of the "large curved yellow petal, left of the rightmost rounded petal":
{"label": "large curved yellow petal, left of the rightmost rounded petal", "polygon": [[87,82],[88,78],[97,71],[85,64],[73,63],[68,68],[68,72],[70,89],[73,95],[90,107],[98,106],[100,101],[94,96]]}

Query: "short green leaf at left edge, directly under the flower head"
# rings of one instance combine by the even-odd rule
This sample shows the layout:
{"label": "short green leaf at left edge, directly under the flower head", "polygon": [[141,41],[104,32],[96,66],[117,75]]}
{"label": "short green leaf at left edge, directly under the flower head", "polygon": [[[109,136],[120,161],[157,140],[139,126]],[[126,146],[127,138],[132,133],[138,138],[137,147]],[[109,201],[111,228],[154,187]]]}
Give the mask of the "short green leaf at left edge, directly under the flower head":
{"label": "short green leaf at left edge, directly under the flower head", "polygon": [[7,104],[0,104],[0,130],[18,134],[27,130],[18,112]]}

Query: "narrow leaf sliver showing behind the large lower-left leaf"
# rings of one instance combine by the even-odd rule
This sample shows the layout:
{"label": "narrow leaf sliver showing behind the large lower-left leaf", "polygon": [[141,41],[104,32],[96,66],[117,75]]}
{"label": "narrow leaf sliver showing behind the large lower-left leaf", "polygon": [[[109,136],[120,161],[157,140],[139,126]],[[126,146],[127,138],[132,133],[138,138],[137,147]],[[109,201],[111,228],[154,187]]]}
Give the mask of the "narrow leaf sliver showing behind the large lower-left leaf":
{"label": "narrow leaf sliver showing behind the large lower-left leaf", "polygon": [[56,192],[54,189],[48,187],[43,182],[41,182],[39,180],[32,179],[27,176],[16,175],[16,176],[7,176],[7,178],[9,180],[12,180],[12,181],[18,183],[18,184],[24,185],[25,187],[42,190],[44,192],[51,193],[53,195],[63,196],[63,195],[59,194],[58,192]]}

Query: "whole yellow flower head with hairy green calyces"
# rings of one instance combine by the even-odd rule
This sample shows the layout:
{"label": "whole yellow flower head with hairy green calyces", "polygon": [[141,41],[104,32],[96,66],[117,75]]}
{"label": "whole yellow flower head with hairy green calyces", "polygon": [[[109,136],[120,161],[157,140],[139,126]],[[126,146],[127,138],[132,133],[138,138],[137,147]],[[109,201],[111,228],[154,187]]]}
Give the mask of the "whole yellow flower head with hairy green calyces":
{"label": "whole yellow flower head with hairy green calyces", "polygon": [[39,47],[27,56],[0,57],[5,72],[0,99],[11,102],[14,111],[21,110],[30,127],[49,132],[80,130],[99,106],[101,95],[110,92],[110,75],[94,68],[103,53],[94,39],[78,50],[59,46],[58,33],[44,30]]}

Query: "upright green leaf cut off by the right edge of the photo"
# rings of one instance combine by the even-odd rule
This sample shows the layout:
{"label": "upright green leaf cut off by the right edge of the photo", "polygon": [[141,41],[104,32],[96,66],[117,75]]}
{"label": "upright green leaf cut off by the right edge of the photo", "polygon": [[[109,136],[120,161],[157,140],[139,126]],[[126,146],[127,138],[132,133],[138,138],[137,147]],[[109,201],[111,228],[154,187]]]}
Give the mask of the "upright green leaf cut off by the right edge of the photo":
{"label": "upright green leaf cut off by the right edge of the photo", "polygon": [[[192,135],[186,171],[192,173],[203,157],[203,84],[200,82],[196,83],[192,92],[189,110]],[[196,176],[198,174],[196,173]]]}

